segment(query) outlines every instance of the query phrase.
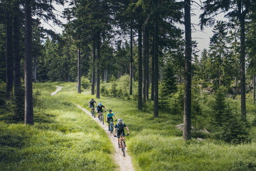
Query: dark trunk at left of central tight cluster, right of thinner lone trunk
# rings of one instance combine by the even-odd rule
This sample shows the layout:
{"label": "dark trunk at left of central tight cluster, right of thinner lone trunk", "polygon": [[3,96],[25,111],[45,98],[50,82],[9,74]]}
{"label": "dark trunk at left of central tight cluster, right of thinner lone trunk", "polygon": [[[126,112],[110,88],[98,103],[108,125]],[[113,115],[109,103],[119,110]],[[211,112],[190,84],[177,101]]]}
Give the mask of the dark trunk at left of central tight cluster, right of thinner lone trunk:
{"label": "dark trunk at left of central tight cluster, right of thinner lone trunk", "polygon": [[142,108],[142,25],[138,28],[138,110]]}

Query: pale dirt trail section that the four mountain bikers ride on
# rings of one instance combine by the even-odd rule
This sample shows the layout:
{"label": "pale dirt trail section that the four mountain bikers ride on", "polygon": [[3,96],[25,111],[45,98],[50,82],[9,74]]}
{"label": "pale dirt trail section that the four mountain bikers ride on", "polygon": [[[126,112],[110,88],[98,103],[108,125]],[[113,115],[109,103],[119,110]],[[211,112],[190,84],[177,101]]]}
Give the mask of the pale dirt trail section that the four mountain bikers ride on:
{"label": "pale dirt trail section that the four mountain bikers ride on", "polygon": [[[86,109],[82,108],[81,106],[79,106],[77,104],[77,107],[82,109],[86,114],[90,115],[92,117],[91,112],[87,111]],[[117,138],[115,138],[110,132],[109,132],[109,127],[108,127],[108,123],[105,123],[105,118],[104,118],[104,124],[102,124],[96,114],[96,117],[92,117],[101,127],[102,129],[106,132],[106,134],[108,134],[112,144],[115,147],[115,161],[117,162],[117,164],[119,164],[121,171],[132,171],[134,170],[133,168],[133,164],[132,164],[132,159],[131,157],[127,154],[127,151],[125,149],[125,157],[123,157],[123,152],[121,151],[120,148],[118,148],[118,144],[117,144]]]}

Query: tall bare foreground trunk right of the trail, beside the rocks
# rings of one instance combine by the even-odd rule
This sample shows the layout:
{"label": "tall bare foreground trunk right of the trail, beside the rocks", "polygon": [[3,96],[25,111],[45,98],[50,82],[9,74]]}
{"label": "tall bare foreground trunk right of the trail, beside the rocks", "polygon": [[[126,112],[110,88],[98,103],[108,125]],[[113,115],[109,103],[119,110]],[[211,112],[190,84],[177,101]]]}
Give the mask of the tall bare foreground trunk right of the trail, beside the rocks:
{"label": "tall bare foreground trunk right of the trail, beside the rocks", "polygon": [[184,117],[183,140],[191,139],[191,20],[190,0],[185,0],[185,89],[184,89]]}

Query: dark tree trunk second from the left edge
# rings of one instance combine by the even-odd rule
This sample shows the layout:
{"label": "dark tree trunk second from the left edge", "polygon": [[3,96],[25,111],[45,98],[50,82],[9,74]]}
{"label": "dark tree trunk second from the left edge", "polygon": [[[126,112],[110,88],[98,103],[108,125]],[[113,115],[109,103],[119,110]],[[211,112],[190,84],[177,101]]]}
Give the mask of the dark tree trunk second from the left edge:
{"label": "dark tree trunk second from the left edge", "polygon": [[19,57],[19,3],[15,5],[15,13],[13,17],[13,76],[14,76],[14,116],[22,118],[22,94],[20,83],[20,57]]}

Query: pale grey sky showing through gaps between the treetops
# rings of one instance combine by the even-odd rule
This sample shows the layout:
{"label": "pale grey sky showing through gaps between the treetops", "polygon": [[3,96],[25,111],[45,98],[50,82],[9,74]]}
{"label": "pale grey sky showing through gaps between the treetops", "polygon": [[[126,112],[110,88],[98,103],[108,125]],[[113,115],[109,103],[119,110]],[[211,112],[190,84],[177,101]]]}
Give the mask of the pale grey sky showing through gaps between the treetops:
{"label": "pale grey sky showing through gaps between the treetops", "polygon": [[[196,3],[201,4],[200,0],[194,0]],[[193,24],[194,27],[192,28],[192,40],[196,40],[198,42],[198,50],[200,51],[198,53],[198,55],[201,57],[201,52],[203,51],[203,49],[207,49],[209,50],[209,42],[210,42],[210,37],[212,37],[213,33],[212,33],[212,29],[213,27],[204,27],[204,30],[201,31],[200,30],[200,26],[199,26],[199,16],[202,13],[202,11],[200,10],[200,7],[196,4],[193,3],[191,4],[191,24]],[[55,9],[57,10],[56,14],[61,15],[61,12],[64,10],[64,8],[67,8],[68,4],[65,5],[65,7],[62,7],[60,5],[55,5]],[[59,11],[59,12],[58,12]],[[62,23],[67,23],[65,19],[61,18],[60,16],[58,16],[58,19],[61,20]],[[216,20],[227,20],[224,18],[223,14],[220,14],[219,16],[216,17]],[[49,22],[49,24],[42,22],[42,26],[44,26],[44,28],[46,29],[52,29],[57,33],[62,33],[62,28],[58,27],[58,26],[54,26],[52,22]],[[183,26],[177,26],[180,27],[181,29],[184,30]]]}

